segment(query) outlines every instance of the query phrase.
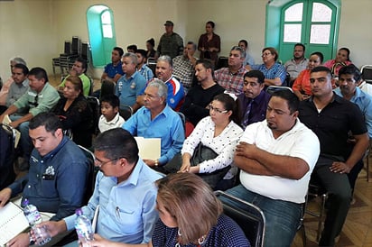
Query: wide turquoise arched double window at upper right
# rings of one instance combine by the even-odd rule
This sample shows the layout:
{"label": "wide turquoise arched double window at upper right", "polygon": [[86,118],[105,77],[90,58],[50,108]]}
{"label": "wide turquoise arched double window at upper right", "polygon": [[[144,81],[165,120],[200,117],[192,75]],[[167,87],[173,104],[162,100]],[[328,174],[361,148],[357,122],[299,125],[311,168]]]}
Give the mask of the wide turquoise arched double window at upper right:
{"label": "wide turquoise arched double window at upper right", "polygon": [[265,45],[278,49],[283,61],[293,57],[298,42],[306,46],[307,57],[313,51],[321,51],[325,60],[336,54],[339,0],[273,0],[266,13]]}

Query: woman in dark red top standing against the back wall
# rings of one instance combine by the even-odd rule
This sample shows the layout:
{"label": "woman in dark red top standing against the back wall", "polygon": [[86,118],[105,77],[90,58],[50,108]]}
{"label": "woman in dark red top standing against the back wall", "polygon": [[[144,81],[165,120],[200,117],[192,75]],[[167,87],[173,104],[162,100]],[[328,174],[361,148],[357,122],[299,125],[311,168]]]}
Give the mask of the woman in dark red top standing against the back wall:
{"label": "woman in dark red top standing against the back wall", "polygon": [[205,33],[200,35],[198,50],[200,50],[200,59],[210,59],[216,64],[218,53],[221,50],[221,41],[219,35],[214,33],[215,23],[209,21],[205,24]]}

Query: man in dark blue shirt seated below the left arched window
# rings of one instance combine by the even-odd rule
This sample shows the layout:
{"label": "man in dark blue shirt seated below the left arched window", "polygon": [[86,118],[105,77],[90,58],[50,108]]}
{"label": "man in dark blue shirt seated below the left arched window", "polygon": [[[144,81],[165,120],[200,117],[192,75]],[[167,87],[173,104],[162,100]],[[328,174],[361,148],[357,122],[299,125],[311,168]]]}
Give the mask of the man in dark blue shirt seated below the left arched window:
{"label": "man in dark blue shirt seated below the left arched window", "polygon": [[107,80],[116,83],[116,81],[124,75],[121,63],[121,57],[123,55],[124,50],[122,48],[114,47],[111,52],[111,63],[108,63],[105,66],[105,70],[101,76],[101,81]]}

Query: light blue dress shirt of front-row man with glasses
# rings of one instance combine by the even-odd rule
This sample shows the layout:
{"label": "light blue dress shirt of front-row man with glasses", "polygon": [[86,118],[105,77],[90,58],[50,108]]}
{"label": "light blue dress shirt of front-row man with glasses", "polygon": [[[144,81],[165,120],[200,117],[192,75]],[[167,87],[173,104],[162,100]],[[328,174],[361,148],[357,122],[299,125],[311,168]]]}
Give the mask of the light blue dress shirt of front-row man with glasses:
{"label": "light blue dress shirt of front-row man with glasses", "polygon": [[[105,177],[101,171],[83,214],[93,219],[99,205],[96,232],[114,242],[150,242],[158,219],[155,209],[157,188],[154,181],[161,178],[139,159],[132,174],[117,184],[117,178]],[[74,229],[76,215],[64,218],[67,229]]]}

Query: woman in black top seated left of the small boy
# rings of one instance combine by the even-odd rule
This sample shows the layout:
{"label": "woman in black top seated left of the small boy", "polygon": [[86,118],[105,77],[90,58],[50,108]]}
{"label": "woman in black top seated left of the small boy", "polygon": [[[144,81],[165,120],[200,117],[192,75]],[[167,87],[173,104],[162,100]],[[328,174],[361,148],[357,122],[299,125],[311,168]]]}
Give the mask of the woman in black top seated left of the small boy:
{"label": "woman in black top seated left of the small boy", "polygon": [[93,133],[93,112],[83,96],[83,85],[79,77],[66,78],[63,97],[53,109],[60,116],[63,130],[70,130],[72,141],[90,148]]}

